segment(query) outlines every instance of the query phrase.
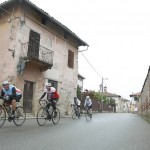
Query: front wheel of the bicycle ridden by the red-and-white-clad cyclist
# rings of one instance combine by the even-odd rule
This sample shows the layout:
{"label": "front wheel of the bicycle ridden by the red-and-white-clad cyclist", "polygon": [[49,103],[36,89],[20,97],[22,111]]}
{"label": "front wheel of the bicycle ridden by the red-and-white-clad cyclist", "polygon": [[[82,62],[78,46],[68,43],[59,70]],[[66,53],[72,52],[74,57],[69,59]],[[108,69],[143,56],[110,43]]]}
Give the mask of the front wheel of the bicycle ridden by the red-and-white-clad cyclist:
{"label": "front wheel of the bicycle ridden by the red-and-white-clad cyclist", "polygon": [[47,121],[47,112],[46,112],[46,108],[45,107],[41,107],[38,110],[36,119],[37,119],[37,123],[40,126],[44,126],[45,125],[45,123]]}

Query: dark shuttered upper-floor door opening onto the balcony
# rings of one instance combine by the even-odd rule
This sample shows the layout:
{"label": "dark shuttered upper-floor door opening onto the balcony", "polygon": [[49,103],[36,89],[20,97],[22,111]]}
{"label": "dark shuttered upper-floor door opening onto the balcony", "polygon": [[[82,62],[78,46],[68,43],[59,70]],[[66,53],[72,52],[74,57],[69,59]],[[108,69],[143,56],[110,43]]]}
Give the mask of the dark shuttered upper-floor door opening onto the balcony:
{"label": "dark shuttered upper-floor door opening onto the balcony", "polygon": [[39,58],[40,34],[30,30],[28,56]]}

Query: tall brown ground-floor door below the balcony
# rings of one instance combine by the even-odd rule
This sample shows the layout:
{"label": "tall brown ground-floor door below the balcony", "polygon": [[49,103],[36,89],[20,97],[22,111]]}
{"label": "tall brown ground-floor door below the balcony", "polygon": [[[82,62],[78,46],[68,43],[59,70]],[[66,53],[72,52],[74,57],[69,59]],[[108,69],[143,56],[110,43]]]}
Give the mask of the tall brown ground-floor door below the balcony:
{"label": "tall brown ground-floor door below the balcony", "polygon": [[27,113],[32,111],[34,82],[24,81],[23,107]]}

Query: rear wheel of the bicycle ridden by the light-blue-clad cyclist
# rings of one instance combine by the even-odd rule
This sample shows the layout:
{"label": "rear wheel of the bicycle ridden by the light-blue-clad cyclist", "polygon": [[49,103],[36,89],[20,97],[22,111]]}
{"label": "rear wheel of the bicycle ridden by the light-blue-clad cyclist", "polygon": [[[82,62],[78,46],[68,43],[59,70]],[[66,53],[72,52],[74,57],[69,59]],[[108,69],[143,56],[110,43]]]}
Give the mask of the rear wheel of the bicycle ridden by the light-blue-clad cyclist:
{"label": "rear wheel of the bicycle ridden by the light-blue-clad cyclist", "polygon": [[15,118],[14,118],[14,124],[16,126],[21,126],[26,120],[26,112],[23,109],[22,106],[18,106],[15,110]]}

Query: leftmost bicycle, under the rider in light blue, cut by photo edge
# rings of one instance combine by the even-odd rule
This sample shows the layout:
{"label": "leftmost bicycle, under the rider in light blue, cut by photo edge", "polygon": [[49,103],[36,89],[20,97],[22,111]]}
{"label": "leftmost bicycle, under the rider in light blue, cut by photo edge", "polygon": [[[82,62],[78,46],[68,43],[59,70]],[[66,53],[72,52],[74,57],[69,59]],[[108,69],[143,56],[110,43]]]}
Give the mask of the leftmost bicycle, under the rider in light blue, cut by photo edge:
{"label": "leftmost bicycle, under the rider in light blue, cut by photo edge", "polygon": [[0,96],[0,99],[3,100],[3,104],[0,104],[0,127],[2,127],[6,121],[6,115],[8,115],[8,121],[13,121],[16,126],[21,126],[26,120],[26,112],[22,106],[17,106],[14,117],[12,117],[12,107],[11,103],[5,105],[4,97]]}

